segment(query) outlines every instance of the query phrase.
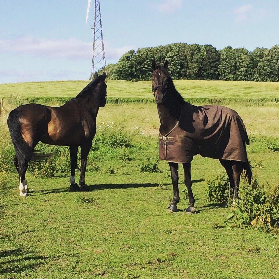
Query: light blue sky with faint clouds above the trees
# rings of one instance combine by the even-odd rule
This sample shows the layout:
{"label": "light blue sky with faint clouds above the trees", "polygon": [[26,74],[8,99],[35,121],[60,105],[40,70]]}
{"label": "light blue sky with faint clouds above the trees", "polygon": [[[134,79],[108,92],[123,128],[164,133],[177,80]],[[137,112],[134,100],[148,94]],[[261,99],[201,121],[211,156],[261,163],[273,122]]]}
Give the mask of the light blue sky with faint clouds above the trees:
{"label": "light blue sky with faint clouds above the trees", "polygon": [[[106,62],[130,49],[184,42],[271,47],[279,1],[100,0]],[[86,80],[94,0],[0,0],[0,83]]]}

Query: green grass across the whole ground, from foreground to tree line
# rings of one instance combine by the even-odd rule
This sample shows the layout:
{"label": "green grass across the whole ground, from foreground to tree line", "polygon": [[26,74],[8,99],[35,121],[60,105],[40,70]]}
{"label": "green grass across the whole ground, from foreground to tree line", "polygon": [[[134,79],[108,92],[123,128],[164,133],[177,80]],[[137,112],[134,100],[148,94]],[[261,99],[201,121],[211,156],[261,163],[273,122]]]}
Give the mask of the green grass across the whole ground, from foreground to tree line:
{"label": "green grass across the whole ground, from foreground to tree line", "polygon": [[[85,84],[2,84],[0,97],[17,88],[29,98],[42,96],[43,91],[50,94],[45,96],[73,97]],[[195,98],[219,98],[221,92],[226,98],[239,94],[240,99],[279,95],[276,83],[176,84],[184,96],[189,93]],[[148,82],[109,81],[108,86],[108,95],[115,98],[127,96],[126,87],[133,97],[153,97]],[[183,199],[181,168],[181,211],[165,212],[172,198],[168,164],[159,162],[159,173],[140,171],[147,158],[152,162],[158,158],[155,104],[108,104],[99,110],[97,122],[102,127],[98,134],[102,129],[110,134],[121,129],[132,147],[104,146],[90,152],[86,174],[90,192],[68,192],[67,172],[51,178],[28,173],[32,193],[25,199],[18,196],[15,171],[5,171],[7,157],[12,156],[4,152],[12,150],[6,118],[14,106],[5,102],[0,122],[0,278],[279,278],[278,236],[254,227],[228,227],[225,218],[230,209],[206,201],[204,180],[224,173],[218,160],[196,156],[192,162],[197,214],[182,211],[188,201]],[[279,138],[278,103],[228,106],[240,114],[253,139],[247,152],[254,174],[267,190],[272,189],[279,182],[279,152],[271,152],[266,140]]]}

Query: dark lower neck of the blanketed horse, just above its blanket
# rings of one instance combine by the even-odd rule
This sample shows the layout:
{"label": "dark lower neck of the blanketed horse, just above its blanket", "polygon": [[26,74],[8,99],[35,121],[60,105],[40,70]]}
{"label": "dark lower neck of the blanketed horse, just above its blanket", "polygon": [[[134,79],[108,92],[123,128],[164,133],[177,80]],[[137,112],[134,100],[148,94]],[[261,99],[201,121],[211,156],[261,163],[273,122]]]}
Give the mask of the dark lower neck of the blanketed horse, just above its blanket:
{"label": "dark lower neck of the blanketed horse, just above its blanket", "polygon": [[177,125],[177,121],[180,118],[182,105],[172,100],[165,105],[157,105],[159,118],[160,118],[160,132],[162,135],[166,135],[170,132],[175,125]]}

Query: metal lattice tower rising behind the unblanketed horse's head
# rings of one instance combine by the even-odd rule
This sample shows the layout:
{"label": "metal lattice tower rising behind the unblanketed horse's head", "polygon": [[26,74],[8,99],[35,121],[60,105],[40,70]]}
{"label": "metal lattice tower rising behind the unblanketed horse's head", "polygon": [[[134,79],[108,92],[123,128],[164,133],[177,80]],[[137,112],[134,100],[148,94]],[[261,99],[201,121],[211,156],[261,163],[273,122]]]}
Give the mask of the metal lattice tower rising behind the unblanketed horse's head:
{"label": "metal lattice tower rising behind the unblanketed horse's head", "polygon": [[94,73],[103,69],[106,72],[106,56],[103,39],[102,19],[100,0],[95,0],[95,19],[93,29],[93,54],[92,54],[92,67],[91,67],[91,80]]}

